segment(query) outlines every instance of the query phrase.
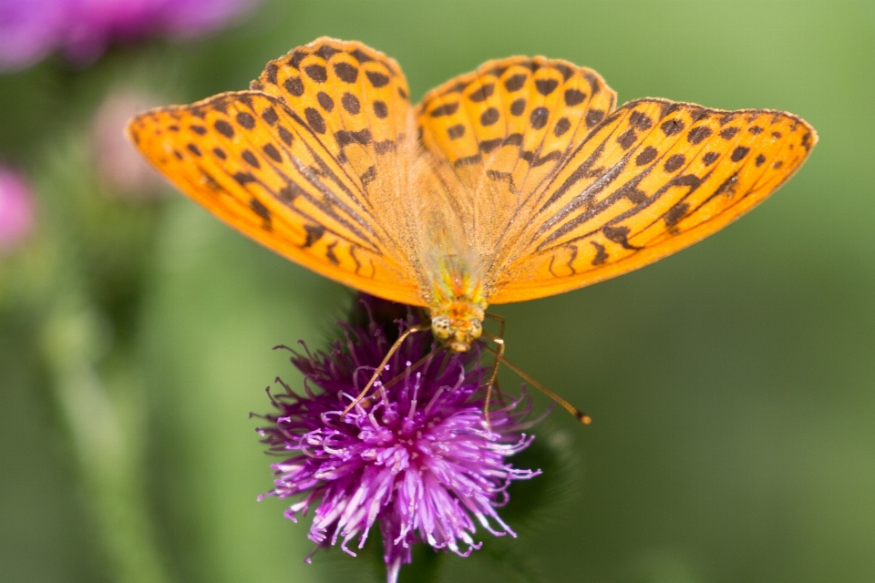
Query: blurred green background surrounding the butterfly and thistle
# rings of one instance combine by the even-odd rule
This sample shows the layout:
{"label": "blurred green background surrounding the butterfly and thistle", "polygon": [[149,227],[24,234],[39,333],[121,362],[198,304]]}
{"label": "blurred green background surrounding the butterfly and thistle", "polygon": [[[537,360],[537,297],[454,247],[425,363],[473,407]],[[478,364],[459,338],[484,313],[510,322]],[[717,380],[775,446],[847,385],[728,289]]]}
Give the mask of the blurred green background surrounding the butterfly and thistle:
{"label": "blurred green background surrounding the butterfly and thistle", "polygon": [[0,164],[33,211],[0,257],[0,580],[383,577],[379,548],[305,565],[306,521],[255,501],[271,458],[248,414],[275,376],[300,383],[271,348],[323,344],[351,292],[118,143],[131,112],[245,88],[323,35],[395,56],[415,100],[489,58],[542,54],[595,68],[621,102],[786,109],[820,135],[773,199],[710,239],[495,309],[510,359],[595,422],[558,410],[538,426],[520,464],[545,475],[511,490],[519,538],[419,554],[433,568],[418,580],[875,580],[875,5],[269,0],[207,28],[0,74]]}

